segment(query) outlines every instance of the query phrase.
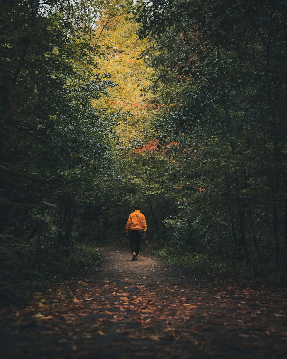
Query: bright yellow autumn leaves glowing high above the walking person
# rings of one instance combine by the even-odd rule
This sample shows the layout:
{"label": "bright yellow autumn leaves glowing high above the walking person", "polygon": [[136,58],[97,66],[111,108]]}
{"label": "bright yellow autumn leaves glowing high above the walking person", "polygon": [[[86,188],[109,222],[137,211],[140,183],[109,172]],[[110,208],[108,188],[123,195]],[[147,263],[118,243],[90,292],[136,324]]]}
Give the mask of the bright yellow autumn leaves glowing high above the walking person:
{"label": "bright yellow autumn leaves glowing high above the walking person", "polygon": [[[98,69],[110,73],[112,81],[118,84],[117,88],[110,91],[109,101],[99,99],[94,101],[94,106],[101,106],[105,102],[111,108],[128,109],[138,113],[142,106],[138,101],[141,95],[141,88],[151,84],[151,69],[147,69],[143,59],[136,60],[146,49],[146,40],[138,39],[136,31],[139,27],[133,21],[129,21],[123,14],[117,16],[113,24],[113,31],[108,27],[95,29],[95,41],[97,46],[106,51],[105,56],[97,56],[94,59],[98,63]],[[100,34],[100,38],[96,40]],[[104,50],[107,49],[107,50]],[[138,107],[133,104],[139,103]]]}

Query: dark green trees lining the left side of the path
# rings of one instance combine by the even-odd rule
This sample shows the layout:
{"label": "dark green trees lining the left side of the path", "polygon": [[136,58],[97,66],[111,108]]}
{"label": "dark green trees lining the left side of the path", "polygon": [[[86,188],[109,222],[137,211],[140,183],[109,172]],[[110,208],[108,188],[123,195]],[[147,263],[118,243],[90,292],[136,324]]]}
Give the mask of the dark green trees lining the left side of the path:
{"label": "dark green trees lining the left side of the path", "polygon": [[97,251],[75,242],[73,227],[101,199],[124,117],[95,106],[116,86],[93,62],[95,14],[107,6],[1,1],[2,304],[99,262]]}

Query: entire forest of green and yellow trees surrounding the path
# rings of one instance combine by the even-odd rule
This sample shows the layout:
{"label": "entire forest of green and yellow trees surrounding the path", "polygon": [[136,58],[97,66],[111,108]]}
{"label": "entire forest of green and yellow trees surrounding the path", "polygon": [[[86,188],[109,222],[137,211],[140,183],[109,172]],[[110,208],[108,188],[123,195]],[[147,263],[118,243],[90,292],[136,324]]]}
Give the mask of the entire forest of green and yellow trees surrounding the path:
{"label": "entire forest of green and yellow trees surrounding the path", "polygon": [[2,304],[99,264],[135,204],[158,257],[286,284],[286,1],[0,4]]}

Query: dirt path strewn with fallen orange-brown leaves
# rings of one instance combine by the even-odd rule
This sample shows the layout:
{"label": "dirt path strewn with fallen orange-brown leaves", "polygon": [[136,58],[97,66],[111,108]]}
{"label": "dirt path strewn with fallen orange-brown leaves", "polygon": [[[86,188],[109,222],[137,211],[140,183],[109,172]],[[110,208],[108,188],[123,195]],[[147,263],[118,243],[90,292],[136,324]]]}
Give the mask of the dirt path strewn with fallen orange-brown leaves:
{"label": "dirt path strewn with fallen orange-brown leaves", "polygon": [[6,358],[287,358],[286,289],[170,266],[127,248],[0,311]]}

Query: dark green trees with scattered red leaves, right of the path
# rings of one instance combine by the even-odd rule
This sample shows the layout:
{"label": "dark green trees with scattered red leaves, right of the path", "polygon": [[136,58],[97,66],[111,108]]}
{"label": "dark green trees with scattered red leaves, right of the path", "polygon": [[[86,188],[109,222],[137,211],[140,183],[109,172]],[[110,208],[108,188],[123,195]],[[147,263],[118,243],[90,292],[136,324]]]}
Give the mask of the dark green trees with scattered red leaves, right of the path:
{"label": "dark green trees with scattered red leaves, right of the path", "polygon": [[147,91],[163,104],[154,132],[179,143],[165,168],[167,236],[226,268],[245,263],[253,278],[273,263],[277,278],[287,263],[286,3],[143,0],[135,16],[152,39]]}

